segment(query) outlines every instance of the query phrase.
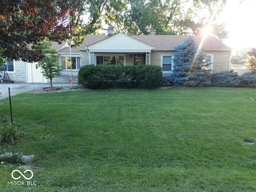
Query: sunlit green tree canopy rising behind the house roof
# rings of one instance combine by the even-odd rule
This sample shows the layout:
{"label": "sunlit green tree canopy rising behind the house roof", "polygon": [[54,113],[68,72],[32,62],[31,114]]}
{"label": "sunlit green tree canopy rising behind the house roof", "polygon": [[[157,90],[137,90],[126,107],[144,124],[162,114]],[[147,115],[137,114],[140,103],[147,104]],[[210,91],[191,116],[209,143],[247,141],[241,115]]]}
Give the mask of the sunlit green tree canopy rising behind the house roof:
{"label": "sunlit green tree canopy rising behind the house roof", "polygon": [[86,33],[93,34],[102,23],[113,24],[125,34],[200,34],[207,24],[220,39],[227,37],[223,23],[215,20],[226,0],[84,0],[88,23]]}

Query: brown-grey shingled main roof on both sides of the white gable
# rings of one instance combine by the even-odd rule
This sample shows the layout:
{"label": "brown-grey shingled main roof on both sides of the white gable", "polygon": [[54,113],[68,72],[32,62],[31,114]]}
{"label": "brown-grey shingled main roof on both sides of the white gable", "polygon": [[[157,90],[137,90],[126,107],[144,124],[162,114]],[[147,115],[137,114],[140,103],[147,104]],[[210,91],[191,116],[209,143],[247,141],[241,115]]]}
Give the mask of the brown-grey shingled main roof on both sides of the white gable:
{"label": "brown-grey shingled main roof on both sides of the white gable", "polygon": [[[174,50],[174,46],[181,44],[188,35],[129,35],[130,37],[139,40],[145,44],[155,47],[154,50]],[[110,36],[111,37],[111,36]],[[87,35],[82,42],[80,48],[85,48],[96,42],[100,42],[106,38],[107,35]],[[203,36],[194,35],[194,40],[199,46]],[[229,46],[224,44],[221,40],[214,36],[207,36],[204,39],[202,48],[205,50],[232,50]]]}

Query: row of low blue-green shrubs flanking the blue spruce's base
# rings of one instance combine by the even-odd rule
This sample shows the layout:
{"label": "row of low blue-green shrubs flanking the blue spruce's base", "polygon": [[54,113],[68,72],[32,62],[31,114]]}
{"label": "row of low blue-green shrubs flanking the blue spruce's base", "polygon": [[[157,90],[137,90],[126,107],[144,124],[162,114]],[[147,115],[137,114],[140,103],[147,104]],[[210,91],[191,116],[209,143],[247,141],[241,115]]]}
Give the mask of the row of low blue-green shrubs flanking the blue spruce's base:
{"label": "row of low blue-green shrubs flanking the blue spruce's base", "polygon": [[[163,76],[160,86],[172,86],[172,82],[172,76]],[[239,76],[237,72],[230,70],[211,74],[210,83],[205,84],[204,86],[234,87],[254,85],[256,85],[255,74],[244,73],[243,75]],[[192,86],[192,84],[187,83],[186,86]]]}

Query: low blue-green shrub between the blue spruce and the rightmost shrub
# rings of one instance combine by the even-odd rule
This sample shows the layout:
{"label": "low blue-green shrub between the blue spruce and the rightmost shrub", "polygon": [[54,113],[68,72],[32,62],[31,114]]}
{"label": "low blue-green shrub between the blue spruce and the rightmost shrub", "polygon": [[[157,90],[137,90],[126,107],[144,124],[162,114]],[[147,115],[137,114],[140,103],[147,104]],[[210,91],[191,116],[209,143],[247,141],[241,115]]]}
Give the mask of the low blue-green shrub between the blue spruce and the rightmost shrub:
{"label": "low blue-green shrub between the blue spruce and the rightmost shrub", "polygon": [[212,74],[211,81],[212,86],[216,87],[234,87],[240,83],[238,73],[234,72],[234,70]]}

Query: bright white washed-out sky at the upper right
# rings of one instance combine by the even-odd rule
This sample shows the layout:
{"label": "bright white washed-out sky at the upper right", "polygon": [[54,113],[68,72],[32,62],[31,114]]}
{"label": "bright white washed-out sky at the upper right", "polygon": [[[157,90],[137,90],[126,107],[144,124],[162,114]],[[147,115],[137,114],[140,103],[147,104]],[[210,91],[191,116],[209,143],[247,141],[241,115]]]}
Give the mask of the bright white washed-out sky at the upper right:
{"label": "bright white washed-out sky at the upper right", "polygon": [[244,48],[256,48],[255,9],[256,0],[227,0],[220,14],[220,21],[226,22],[228,39],[224,43],[234,51]]}

